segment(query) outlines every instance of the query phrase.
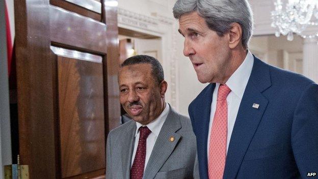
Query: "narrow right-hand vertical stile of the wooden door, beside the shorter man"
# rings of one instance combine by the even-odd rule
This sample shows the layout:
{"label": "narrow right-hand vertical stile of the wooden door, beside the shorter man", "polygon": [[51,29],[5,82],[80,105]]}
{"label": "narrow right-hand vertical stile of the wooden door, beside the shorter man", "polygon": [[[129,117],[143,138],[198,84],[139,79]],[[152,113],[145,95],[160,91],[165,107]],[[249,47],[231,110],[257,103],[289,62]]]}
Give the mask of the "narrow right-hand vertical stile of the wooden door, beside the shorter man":
{"label": "narrow right-hand vertical stile of the wooden door, beside the shorter man", "polygon": [[[104,88],[104,93],[108,94],[108,98],[105,98],[105,104],[107,104],[105,115],[108,116],[106,127],[108,130],[112,130],[120,124],[119,87],[117,81],[119,71],[117,6],[112,6],[115,4],[114,2],[116,1],[104,0],[104,3],[102,3],[103,19],[105,19],[105,23],[108,27],[106,32],[107,59],[104,59],[103,63],[104,73],[107,72],[107,78],[104,78],[104,84],[107,84]],[[106,76],[106,74],[104,76]]]}

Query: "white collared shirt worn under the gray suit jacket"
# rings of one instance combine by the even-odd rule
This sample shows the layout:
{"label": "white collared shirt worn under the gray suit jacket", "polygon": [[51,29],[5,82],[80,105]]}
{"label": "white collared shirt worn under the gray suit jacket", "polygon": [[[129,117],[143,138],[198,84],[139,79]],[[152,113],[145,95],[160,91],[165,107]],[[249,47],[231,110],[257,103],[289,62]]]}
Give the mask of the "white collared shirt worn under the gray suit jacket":
{"label": "white collared shirt worn under the gray suit jacket", "polygon": [[[148,127],[148,129],[151,131],[151,133],[147,137],[147,142],[146,142],[145,168],[147,166],[147,163],[148,163],[149,157],[151,155],[151,151],[153,149],[155,141],[157,140],[157,137],[161,131],[161,128],[166,121],[166,118],[167,118],[168,113],[169,113],[169,109],[170,109],[169,104],[166,103],[166,107],[165,107],[164,111],[160,114],[160,116],[158,116],[156,119],[154,119],[153,121],[151,121],[150,123],[148,123],[146,125]],[[137,152],[139,135],[140,135],[139,128],[141,126],[145,126],[139,122],[136,122],[136,125],[137,125],[137,128],[136,128],[136,134],[135,134],[135,145],[134,145],[133,157],[131,157],[130,168],[131,168],[131,166],[133,166],[134,159],[135,159],[136,152]],[[145,170],[145,168],[144,168],[144,170]]]}

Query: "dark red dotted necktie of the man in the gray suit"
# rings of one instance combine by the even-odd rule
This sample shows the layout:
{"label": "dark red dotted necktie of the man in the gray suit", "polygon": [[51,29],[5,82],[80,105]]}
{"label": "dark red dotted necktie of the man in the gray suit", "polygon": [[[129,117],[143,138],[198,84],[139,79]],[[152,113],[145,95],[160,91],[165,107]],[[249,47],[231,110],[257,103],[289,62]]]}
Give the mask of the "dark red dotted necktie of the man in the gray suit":
{"label": "dark red dotted necktie of the man in the gray suit", "polygon": [[147,126],[139,128],[139,141],[133,166],[130,169],[130,179],[142,179],[146,160],[146,142],[151,133]]}

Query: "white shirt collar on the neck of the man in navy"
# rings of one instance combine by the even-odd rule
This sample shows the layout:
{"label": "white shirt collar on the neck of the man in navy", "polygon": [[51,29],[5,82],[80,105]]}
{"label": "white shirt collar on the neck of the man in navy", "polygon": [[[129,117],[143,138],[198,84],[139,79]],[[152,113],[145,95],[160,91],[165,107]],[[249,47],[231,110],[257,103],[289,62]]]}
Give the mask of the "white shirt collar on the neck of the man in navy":
{"label": "white shirt collar on the neck of the man in navy", "polygon": [[243,98],[247,82],[250,78],[253,64],[254,57],[248,50],[243,63],[234,71],[234,73],[225,83],[231,89],[231,91],[241,99]]}

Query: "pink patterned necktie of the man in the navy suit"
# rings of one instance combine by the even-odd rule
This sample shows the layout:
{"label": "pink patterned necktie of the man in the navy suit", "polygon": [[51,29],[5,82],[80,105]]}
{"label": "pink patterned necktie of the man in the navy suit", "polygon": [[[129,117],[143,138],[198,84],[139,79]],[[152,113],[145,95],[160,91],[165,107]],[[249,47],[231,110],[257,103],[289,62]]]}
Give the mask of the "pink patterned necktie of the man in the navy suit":
{"label": "pink patterned necktie of the man in the navy suit", "polygon": [[209,179],[219,179],[223,177],[227,139],[226,97],[230,91],[230,88],[226,85],[220,85],[218,90],[217,109],[213,118],[208,151]]}

